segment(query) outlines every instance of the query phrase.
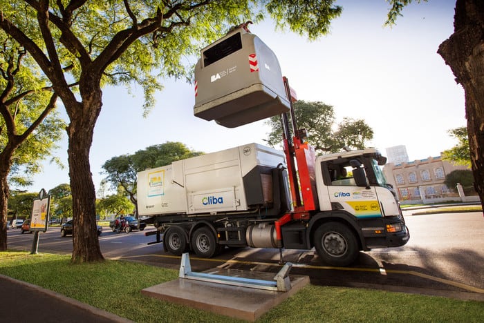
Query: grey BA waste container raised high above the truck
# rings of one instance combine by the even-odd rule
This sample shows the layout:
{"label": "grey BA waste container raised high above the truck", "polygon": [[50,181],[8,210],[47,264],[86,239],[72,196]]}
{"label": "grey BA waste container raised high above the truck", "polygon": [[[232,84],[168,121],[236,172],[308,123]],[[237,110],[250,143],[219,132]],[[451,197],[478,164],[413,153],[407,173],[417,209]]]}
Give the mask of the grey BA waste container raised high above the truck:
{"label": "grey BA waste container raised high above the truck", "polygon": [[227,128],[290,109],[277,57],[243,28],[201,50],[195,84],[194,115]]}

